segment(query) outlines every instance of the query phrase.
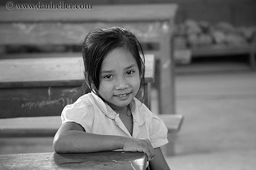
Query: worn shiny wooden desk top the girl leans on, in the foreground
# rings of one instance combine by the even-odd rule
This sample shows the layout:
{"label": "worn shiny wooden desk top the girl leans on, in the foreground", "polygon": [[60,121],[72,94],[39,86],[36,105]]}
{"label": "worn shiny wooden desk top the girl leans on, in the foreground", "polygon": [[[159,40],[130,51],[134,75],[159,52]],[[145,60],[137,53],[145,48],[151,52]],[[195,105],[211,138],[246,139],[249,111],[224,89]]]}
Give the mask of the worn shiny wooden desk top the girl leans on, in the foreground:
{"label": "worn shiny wooden desk top the girl leans on, in the foreground", "polygon": [[142,152],[26,153],[0,155],[1,170],[145,170]]}

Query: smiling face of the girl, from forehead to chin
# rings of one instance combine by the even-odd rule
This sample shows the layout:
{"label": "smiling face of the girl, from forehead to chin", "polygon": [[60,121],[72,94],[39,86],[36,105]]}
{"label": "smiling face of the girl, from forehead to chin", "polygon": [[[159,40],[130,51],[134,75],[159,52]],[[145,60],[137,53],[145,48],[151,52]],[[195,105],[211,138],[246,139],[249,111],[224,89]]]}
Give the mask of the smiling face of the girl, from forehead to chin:
{"label": "smiling face of the girl, from forehead to chin", "polygon": [[140,88],[140,74],[134,57],[125,49],[110,52],[101,64],[98,93],[114,110],[126,107]]}

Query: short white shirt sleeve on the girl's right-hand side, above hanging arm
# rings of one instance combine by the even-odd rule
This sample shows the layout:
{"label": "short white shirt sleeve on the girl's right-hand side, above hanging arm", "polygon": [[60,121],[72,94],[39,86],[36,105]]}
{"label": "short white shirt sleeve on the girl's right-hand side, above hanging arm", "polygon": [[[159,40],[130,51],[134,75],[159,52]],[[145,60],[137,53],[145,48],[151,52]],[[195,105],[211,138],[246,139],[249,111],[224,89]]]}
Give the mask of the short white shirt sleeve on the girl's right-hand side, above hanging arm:
{"label": "short white shirt sleeve on the girl's right-hand side, above hanging arm", "polygon": [[167,133],[168,129],[164,122],[155,114],[152,114],[152,119],[149,126],[149,135],[153,148],[157,148],[168,143]]}

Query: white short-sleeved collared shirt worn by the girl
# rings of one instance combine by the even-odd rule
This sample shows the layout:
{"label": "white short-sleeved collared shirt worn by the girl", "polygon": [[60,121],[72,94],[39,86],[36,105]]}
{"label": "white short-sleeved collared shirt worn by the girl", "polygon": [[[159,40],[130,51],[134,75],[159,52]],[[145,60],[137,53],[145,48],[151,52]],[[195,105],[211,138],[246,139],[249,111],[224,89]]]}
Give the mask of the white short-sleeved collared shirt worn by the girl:
{"label": "white short-sleeved collared shirt worn by the girl", "polygon": [[149,139],[154,148],[168,143],[166,126],[148,107],[134,98],[130,108],[133,115],[132,135],[119,114],[93,92],[64,107],[61,120],[62,124],[78,123],[90,133]]}

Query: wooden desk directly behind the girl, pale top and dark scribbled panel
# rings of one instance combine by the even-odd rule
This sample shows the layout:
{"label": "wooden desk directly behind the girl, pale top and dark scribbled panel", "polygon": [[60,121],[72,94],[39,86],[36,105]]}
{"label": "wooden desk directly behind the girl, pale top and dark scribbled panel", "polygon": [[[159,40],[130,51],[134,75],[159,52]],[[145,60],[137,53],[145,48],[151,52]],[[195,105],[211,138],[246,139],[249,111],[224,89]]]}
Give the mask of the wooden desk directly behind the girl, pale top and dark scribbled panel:
{"label": "wooden desk directly behind the girl, pale top and dark scribbled panel", "polygon": [[[82,57],[15,58],[0,60],[0,118],[57,116],[81,96]],[[150,83],[155,57],[145,58],[145,98],[150,107]]]}

